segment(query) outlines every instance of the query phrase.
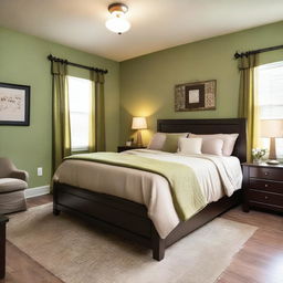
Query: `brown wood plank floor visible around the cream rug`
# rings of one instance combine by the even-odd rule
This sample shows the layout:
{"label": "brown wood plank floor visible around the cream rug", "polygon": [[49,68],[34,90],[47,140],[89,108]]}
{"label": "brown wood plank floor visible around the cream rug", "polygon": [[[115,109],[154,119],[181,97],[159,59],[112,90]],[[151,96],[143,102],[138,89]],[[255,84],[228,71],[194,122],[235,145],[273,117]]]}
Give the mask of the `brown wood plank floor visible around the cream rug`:
{"label": "brown wood plank floor visible around the cream rug", "polygon": [[[43,196],[29,199],[28,206],[31,208],[51,201],[51,196]],[[259,229],[235,254],[218,283],[283,283],[283,217],[260,211],[244,213],[239,207],[221,217]],[[60,279],[8,241],[7,277],[0,283],[60,282]]]}

